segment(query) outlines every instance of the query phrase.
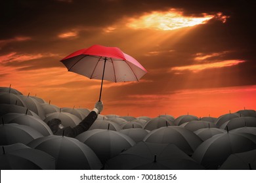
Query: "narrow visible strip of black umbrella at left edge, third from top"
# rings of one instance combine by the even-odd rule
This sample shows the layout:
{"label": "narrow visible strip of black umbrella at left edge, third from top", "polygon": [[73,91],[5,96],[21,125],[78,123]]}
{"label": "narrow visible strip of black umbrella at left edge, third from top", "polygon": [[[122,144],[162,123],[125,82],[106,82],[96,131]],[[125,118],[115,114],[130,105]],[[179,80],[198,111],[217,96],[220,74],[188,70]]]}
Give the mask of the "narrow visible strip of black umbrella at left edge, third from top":
{"label": "narrow visible strip of black umbrella at left edge, third from top", "polygon": [[28,114],[40,118],[37,114],[35,114],[35,112],[29,110],[27,107],[22,107],[19,105],[0,104],[0,116],[8,113]]}

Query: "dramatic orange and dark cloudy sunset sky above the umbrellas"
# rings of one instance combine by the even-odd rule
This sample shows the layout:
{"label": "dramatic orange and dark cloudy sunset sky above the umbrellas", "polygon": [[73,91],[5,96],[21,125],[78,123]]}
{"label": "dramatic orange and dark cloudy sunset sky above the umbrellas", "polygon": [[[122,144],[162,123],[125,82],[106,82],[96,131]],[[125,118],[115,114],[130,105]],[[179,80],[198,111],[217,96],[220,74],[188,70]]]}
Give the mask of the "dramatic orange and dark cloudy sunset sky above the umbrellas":
{"label": "dramatic orange and dark cloudy sunset sky above the umbrellas", "polygon": [[60,62],[114,46],[148,71],[108,82],[102,114],[219,117],[256,109],[253,1],[1,1],[0,86],[58,107],[92,109],[100,80]]}

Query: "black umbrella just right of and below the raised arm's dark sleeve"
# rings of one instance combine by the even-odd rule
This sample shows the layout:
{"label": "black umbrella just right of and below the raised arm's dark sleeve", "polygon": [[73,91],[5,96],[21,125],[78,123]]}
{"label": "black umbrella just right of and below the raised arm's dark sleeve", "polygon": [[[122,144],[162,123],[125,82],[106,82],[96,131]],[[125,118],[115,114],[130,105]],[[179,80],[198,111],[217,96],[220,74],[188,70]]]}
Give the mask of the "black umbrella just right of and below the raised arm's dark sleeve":
{"label": "black umbrella just right of and below the raised arm's dark sleeve", "polygon": [[127,135],[108,129],[85,131],[75,138],[87,144],[102,163],[135,145],[135,141]]}

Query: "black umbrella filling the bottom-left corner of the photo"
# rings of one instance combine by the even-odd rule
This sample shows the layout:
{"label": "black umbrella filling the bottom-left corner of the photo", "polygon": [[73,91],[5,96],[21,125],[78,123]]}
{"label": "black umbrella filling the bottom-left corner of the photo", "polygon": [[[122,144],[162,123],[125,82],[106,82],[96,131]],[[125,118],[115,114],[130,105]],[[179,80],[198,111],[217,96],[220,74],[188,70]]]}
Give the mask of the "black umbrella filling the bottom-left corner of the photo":
{"label": "black umbrella filling the bottom-left corner of the photo", "polygon": [[22,143],[0,146],[1,170],[53,170],[55,158]]}

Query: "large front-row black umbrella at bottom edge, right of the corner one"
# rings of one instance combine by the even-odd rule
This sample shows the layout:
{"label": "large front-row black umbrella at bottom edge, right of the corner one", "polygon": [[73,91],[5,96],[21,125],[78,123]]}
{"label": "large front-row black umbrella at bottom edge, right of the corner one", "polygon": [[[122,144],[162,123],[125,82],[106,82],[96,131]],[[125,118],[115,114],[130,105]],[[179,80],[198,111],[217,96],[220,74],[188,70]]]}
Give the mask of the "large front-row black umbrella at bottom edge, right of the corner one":
{"label": "large front-row black umbrella at bottom edge, right of the corner one", "polygon": [[74,138],[51,135],[35,139],[28,146],[53,156],[56,159],[56,169],[58,170],[97,170],[102,168],[95,152]]}

